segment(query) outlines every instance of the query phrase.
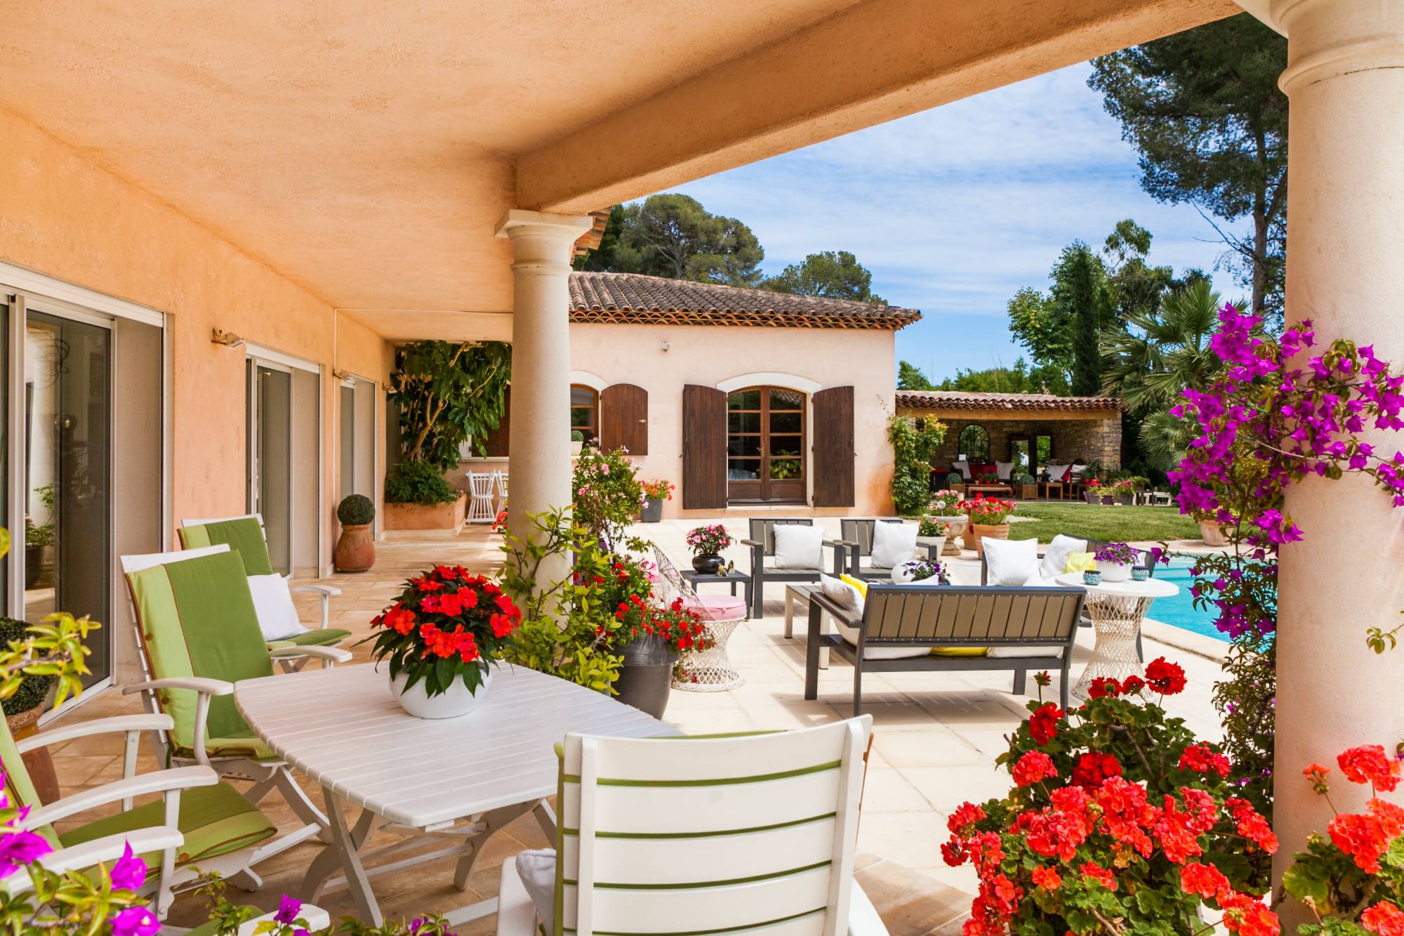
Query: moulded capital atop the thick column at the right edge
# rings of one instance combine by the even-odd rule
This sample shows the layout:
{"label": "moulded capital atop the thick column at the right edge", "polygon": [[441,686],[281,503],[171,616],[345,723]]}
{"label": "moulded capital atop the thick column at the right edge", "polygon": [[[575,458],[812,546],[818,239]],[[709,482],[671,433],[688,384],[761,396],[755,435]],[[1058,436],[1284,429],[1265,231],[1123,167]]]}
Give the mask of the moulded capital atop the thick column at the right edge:
{"label": "moulded capital atop the thick column at the right edge", "polygon": [[1286,94],[1317,82],[1404,67],[1404,4],[1380,0],[1271,0],[1271,22],[1287,37]]}

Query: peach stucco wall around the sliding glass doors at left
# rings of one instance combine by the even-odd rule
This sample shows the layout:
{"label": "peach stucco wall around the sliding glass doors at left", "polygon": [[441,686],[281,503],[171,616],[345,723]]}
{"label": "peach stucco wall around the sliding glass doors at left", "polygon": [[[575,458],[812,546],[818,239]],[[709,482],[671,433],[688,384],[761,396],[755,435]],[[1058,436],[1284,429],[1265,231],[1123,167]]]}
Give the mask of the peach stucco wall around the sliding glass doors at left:
{"label": "peach stucco wall around the sliding glass doors at left", "polygon": [[[213,327],[323,365],[322,469],[330,499],[338,471],[331,371],[383,379],[386,343],[32,124],[0,111],[0,259],[171,316],[171,526],[244,510],[244,353],[211,343]],[[329,514],[323,562],[334,542]]]}

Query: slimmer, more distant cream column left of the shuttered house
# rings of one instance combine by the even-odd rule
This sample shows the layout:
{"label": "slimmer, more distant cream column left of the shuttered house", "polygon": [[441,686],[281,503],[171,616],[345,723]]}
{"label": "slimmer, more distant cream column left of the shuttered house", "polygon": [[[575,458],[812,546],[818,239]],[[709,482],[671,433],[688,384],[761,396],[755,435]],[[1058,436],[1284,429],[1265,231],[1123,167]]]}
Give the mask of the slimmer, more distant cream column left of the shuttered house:
{"label": "slimmer, more distant cream column left of the shuttered house", "polygon": [[[507,527],[528,513],[570,506],[570,259],[588,215],[507,212],[497,236],[512,242],[511,489]],[[564,565],[555,571],[564,573]]]}

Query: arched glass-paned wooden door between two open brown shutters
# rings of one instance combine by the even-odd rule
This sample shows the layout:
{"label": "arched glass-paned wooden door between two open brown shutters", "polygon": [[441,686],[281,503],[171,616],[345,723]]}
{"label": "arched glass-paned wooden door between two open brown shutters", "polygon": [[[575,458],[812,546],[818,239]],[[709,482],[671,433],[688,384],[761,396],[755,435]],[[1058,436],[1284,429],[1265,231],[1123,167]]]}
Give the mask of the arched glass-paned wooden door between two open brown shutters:
{"label": "arched glass-paned wooden door between two open brown shutters", "polygon": [[785,386],[727,394],[729,500],[804,503],[804,402]]}

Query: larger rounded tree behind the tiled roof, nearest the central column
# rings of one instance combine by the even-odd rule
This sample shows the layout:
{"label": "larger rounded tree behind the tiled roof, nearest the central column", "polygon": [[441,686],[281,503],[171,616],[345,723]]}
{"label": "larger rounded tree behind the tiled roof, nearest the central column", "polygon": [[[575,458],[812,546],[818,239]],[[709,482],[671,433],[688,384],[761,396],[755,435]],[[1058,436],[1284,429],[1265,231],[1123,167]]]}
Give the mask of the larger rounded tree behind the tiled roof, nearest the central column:
{"label": "larger rounded tree behind the tiled roof, nearest the central column", "polygon": [[[618,215],[618,223],[615,222]],[[609,225],[616,235],[583,268],[647,273],[673,280],[722,285],[757,285],[765,250],[743,222],[713,215],[696,198],[649,195],[642,202],[615,207]],[[605,238],[609,238],[609,226]],[[608,256],[607,256],[608,254]]]}

